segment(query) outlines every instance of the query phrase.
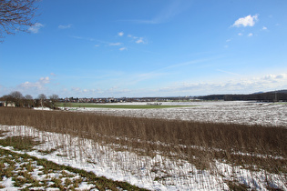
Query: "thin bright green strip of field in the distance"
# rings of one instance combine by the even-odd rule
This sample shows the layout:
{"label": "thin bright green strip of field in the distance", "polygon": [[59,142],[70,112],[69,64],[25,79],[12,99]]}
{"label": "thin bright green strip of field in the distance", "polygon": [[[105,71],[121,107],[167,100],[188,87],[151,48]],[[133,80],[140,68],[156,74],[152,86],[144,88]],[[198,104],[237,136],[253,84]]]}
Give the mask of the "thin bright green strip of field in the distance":
{"label": "thin bright green strip of field in the distance", "polygon": [[110,105],[110,104],[85,104],[85,103],[57,103],[57,107],[95,107],[95,108],[114,108],[114,109],[162,109],[188,106],[164,106],[164,105]]}

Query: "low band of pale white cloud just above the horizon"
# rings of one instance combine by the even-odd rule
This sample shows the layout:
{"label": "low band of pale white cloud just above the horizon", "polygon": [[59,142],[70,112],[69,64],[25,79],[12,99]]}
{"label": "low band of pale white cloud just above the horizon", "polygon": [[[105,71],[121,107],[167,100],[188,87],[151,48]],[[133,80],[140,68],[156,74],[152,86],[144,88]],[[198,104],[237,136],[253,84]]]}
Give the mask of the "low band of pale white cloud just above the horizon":
{"label": "low band of pale white cloud just above the horizon", "polygon": [[[261,75],[257,77],[241,76],[229,71],[218,70],[223,73],[233,75],[231,80],[220,81],[206,81],[206,82],[178,82],[169,85],[160,85],[160,88],[150,87],[143,88],[138,86],[136,89],[128,89],[127,83],[125,85],[108,86],[103,89],[93,89],[88,87],[72,87],[69,90],[62,88],[60,96],[77,95],[78,97],[85,96],[161,96],[161,95],[209,95],[209,94],[250,94],[258,91],[272,91],[276,89],[287,88],[287,73],[285,74],[271,74]],[[128,76],[128,85],[135,85],[139,81],[151,79],[155,76],[165,74],[149,73],[139,74],[132,77]],[[135,80],[130,80],[135,79]],[[120,80],[119,80],[120,81]],[[24,94],[38,95],[40,93],[51,94],[46,86],[50,83],[49,77],[42,77],[37,82],[26,82],[18,86],[17,90]],[[132,84],[134,83],[134,84]],[[117,83],[116,83],[117,84]]]}

